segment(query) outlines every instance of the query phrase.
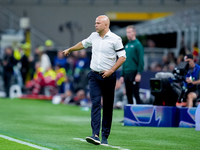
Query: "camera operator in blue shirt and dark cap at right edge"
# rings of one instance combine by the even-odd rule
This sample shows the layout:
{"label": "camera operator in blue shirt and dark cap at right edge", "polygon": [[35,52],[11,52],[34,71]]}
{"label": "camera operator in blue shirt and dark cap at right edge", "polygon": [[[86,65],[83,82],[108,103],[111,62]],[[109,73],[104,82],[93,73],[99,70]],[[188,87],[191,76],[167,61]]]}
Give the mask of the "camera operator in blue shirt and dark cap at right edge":
{"label": "camera operator in blue shirt and dark cap at right edge", "polygon": [[185,76],[184,83],[184,87],[186,88],[186,107],[193,107],[195,106],[194,101],[200,94],[200,66],[194,62],[192,54],[186,55],[184,61],[189,64],[189,71]]}

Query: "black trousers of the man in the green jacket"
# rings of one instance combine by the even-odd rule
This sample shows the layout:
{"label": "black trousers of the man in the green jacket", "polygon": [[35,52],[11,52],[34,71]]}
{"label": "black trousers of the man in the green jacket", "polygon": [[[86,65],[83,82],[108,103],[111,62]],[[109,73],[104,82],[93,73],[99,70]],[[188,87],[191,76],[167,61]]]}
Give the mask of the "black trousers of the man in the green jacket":
{"label": "black trousers of the man in the green jacket", "polygon": [[135,97],[137,104],[141,104],[139,96],[140,82],[135,82],[136,74],[137,71],[124,74],[124,82],[126,87],[126,96],[128,99],[128,104],[133,104],[133,96]]}

